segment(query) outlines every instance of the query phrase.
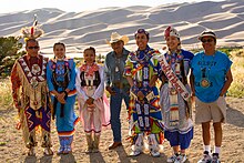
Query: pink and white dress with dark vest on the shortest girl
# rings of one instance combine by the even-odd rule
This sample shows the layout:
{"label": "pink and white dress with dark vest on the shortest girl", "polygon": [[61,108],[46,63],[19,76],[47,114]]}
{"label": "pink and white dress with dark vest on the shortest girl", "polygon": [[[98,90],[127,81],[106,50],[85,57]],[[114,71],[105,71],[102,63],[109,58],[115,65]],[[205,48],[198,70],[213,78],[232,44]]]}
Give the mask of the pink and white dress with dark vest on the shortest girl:
{"label": "pink and white dress with dark vest on the shortest girl", "polygon": [[[92,131],[101,133],[102,126],[110,124],[110,108],[104,95],[104,68],[94,63],[89,67],[82,64],[77,70],[75,86],[78,91],[78,102],[80,116],[85,133]],[[92,105],[85,101],[91,96],[94,99]]]}

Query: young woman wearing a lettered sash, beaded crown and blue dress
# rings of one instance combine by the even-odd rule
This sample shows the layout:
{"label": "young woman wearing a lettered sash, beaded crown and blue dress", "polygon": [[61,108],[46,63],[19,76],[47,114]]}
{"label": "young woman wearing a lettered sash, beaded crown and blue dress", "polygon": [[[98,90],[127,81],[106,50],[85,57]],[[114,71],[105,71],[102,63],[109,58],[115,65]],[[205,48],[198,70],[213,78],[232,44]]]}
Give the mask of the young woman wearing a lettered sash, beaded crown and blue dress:
{"label": "young woman wearing a lettered sash, beaded crown and blue dress", "polygon": [[164,60],[160,62],[162,68],[160,103],[165,126],[164,136],[174,152],[167,162],[182,163],[186,161],[185,150],[193,139],[187,74],[194,54],[180,48],[181,40],[176,29],[169,27],[164,32],[164,38],[169,51],[163,55]]}

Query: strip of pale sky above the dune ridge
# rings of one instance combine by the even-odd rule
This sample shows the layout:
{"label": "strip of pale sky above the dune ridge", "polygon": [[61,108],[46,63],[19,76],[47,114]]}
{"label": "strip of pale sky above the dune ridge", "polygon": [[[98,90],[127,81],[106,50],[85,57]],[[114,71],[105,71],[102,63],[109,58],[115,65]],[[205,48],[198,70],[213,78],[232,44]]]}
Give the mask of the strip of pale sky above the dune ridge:
{"label": "strip of pale sky above the dune ridge", "polygon": [[[64,11],[95,10],[105,7],[160,6],[173,2],[193,2],[205,0],[1,0],[0,13],[40,8],[58,8]],[[212,0],[222,1],[222,0]]]}

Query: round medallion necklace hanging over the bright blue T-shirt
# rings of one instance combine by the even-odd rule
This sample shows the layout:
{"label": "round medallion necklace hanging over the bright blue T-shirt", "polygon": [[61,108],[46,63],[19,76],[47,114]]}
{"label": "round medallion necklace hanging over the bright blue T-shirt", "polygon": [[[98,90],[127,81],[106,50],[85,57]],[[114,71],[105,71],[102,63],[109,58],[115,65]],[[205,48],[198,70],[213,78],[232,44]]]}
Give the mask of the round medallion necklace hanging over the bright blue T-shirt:
{"label": "round medallion necklace hanging over the bright blue T-shirt", "polygon": [[200,81],[200,85],[202,88],[206,89],[206,88],[211,86],[211,84],[212,84],[212,82],[209,79],[209,74],[210,74],[210,71],[211,71],[212,67],[215,64],[214,58],[215,58],[215,53],[212,55],[211,61],[206,61],[205,60],[205,54],[204,53],[202,54],[201,64],[200,64],[201,73],[202,73],[202,79]]}

